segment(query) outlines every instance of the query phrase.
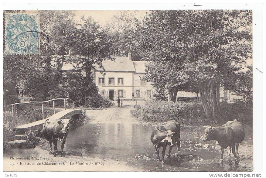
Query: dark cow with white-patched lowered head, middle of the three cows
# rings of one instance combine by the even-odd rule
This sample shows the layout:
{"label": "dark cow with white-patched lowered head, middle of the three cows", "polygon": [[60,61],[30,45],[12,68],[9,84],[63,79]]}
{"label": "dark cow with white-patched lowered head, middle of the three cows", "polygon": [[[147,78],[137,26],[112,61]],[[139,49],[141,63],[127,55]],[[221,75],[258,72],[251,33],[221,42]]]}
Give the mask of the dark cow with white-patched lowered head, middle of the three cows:
{"label": "dark cow with white-patched lowered head, middle of the three cows", "polygon": [[180,154],[180,124],[175,121],[164,122],[157,125],[152,132],[151,141],[157,152],[157,160],[160,160],[159,148],[162,146],[162,164],[164,164],[164,156],[166,146],[169,146],[170,157],[173,146],[177,145],[178,154]]}

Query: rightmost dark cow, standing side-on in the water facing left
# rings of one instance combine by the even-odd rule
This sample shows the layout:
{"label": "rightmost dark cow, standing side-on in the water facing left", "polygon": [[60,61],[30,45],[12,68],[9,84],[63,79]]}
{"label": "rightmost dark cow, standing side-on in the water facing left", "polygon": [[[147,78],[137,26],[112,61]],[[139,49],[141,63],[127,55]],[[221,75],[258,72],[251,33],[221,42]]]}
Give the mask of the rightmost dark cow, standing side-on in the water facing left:
{"label": "rightmost dark cow, standing side-on in the water facing left", "polygon": [[210,140],[216,140],[221,146],[222,154],[219,162],[223,162],[223,152],[228,146],[232,147],[234,157],[239,162],[238,145],[245,138],[244,127],[236,119],[234,121],[228,121],[226,124],[220,127],[205,126],[204,135],[201,139],[206,142]]}

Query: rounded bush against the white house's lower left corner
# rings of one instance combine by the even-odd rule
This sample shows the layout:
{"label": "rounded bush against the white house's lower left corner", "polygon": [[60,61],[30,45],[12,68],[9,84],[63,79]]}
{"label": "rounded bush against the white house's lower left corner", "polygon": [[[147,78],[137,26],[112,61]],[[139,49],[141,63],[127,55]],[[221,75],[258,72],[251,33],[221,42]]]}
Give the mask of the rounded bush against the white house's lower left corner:
{"label": "rounded bush against the white house's lower left corner", "polygon": [[104,95],[98,92],[94,92],[86,98],[86,107],[99,108],[101,100],[103,101],[103,105],[105,107],[110,107],[114,105],[114,102],[111,101],[109,98],[105,97]]}

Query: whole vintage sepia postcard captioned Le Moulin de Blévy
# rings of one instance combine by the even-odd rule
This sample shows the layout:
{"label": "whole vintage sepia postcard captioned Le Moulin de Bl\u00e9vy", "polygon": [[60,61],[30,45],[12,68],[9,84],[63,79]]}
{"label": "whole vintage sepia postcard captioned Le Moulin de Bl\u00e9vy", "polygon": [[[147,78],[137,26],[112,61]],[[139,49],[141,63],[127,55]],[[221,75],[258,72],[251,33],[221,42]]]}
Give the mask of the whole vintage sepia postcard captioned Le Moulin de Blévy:
{"label": "whole vintage sepia postcard captioned Le Moulin de Bl\u00e9vy", "polygon": [[4,10],[3,171],[252,172],[252,9],[194,7]]}

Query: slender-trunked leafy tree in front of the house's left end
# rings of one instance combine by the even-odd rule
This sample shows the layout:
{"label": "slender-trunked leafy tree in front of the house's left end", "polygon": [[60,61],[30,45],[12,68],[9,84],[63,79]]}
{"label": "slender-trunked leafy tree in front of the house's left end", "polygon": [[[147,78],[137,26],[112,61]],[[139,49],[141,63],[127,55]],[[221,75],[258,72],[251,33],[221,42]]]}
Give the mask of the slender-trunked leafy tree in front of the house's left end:
{"label": "slender-trunked leafy tree in front of the house's left end", "polygon": [[113,60],[111,57],[112,40],[91,17],[88,19],[81,17],[74,36],[70,62],[76,63],[77,69],[86,71],[85,82],[88,86],[85,92],[86,98],[90,94],[90,85],[93,84],[92,71],[95,69],[95,65],[103,68],[103,60]]}

